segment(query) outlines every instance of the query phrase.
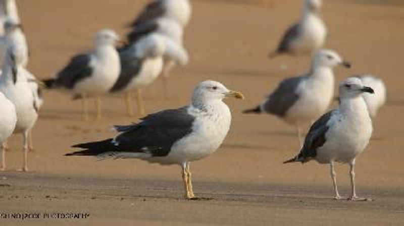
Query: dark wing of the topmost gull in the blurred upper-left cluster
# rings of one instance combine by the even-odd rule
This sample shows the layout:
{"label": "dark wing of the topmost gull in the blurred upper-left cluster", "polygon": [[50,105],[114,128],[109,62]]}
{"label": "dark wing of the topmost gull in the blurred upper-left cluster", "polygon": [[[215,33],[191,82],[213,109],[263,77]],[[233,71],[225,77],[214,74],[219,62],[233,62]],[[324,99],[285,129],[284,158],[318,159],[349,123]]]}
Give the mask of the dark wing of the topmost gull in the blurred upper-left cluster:
{"label": "dark wing of the topmost gull in the blurred upper-left cluster", "polygon": [[139,16],[130,24],[131,27],[135,28],[139,24],[156,20],[157,18],[163,16],[166,13],[166,9],[164,8],[163,1],[155,0],[146,5],[144,10],[140,13]]}

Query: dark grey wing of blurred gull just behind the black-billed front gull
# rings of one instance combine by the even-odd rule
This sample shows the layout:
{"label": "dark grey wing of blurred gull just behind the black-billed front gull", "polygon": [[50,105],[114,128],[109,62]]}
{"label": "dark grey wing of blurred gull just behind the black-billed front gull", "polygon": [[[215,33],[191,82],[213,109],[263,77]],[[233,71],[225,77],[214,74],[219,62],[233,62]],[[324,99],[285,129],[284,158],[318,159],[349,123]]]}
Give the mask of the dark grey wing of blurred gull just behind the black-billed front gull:
{"label": "dark grey wing of blurred gull just behind the black-billed front gull", "polygon": [[283,117],[286,111],[297,101],[297,86],[305,80],[305,76],[293,77],[283,80],[272,92],[263,105],[266,112]]}

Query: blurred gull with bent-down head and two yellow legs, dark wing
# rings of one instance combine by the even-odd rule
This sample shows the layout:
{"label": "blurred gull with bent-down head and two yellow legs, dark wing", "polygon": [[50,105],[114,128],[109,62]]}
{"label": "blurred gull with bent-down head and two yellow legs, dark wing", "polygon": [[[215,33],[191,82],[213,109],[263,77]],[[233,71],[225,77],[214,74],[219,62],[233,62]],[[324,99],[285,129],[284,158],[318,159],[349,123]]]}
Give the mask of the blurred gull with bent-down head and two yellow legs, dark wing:
{"label": "blurred gull with bent-down head and two yellow legs, dark wing", "polygon": [[111,92],[124,92],[127,112],[133,116],[130,91],[136,91],[139,115],[144,115],[141,90],[153,83],[163,70],[163,55],[170,55],[178,64],[187,55],[170,38],[152,33],[119,50],[121,74]]}

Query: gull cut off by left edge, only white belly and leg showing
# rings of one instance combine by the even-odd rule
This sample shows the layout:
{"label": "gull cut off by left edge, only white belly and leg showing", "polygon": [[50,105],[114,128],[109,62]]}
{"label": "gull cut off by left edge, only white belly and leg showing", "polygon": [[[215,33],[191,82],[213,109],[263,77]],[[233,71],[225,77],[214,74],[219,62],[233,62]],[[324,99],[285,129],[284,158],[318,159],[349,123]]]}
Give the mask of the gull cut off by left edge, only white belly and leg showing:
{"label": "gull cut off by left edge, only white belly and leg showing", "polygon": [[2,165],[0,171],[6,170],[6,141],[13,134],[17,123],[17,114],[14,104],[0,92],[0,142],[2,144]]}

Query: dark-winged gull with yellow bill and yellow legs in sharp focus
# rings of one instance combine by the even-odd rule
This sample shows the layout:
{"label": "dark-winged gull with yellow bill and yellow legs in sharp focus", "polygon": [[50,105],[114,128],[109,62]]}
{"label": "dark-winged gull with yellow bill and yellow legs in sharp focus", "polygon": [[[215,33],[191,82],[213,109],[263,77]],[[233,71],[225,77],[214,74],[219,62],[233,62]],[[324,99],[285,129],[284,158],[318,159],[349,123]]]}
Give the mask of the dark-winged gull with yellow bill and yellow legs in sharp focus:
{"label": "dark-winged gull with yellow bill and yellow legs in sharp focus", "polygon": [[201,82],[190,105],[148,115],[138,124],[115,126],[120,133],[117,137],[74,145],[84,150],[66,155],[178,164],[182,168],[185,198],[194,199],[190,162],[213,154],[225,139],[231,122],[230,109],[223,102],[225,97],[242,99],[243,95],[216,81]]}

